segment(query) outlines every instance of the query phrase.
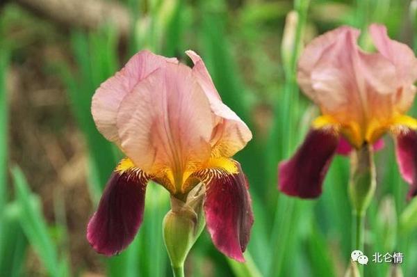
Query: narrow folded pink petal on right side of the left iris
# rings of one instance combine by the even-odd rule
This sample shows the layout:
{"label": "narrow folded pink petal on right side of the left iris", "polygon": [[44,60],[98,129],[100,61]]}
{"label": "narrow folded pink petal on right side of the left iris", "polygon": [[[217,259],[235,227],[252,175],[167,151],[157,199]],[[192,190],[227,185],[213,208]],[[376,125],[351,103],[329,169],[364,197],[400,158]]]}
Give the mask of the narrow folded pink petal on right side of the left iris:
{"label": "narrow folded pink petal on right side of the left iris", "polygon": [[218,125],[211,139],[213,152],[221,157],[231,157],[252,139],[252,132],[234,111],[223,104],[202,58],[191,50],[186,54],[194,63],[193,74],[206,93],[211,110],[218,116]]}

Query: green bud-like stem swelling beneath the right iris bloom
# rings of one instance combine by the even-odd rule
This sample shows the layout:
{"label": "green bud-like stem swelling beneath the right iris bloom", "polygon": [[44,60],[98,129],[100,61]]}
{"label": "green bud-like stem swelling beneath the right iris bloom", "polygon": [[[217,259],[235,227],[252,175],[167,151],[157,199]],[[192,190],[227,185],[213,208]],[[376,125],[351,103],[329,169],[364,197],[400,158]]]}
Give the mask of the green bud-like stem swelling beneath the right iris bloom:
{"label": "green bud-like stem swelling beneath the right iris bloom", "polygon": [[350,156],[349,193],[354,212],[363,216],[375,193],[376,173],[372,146],[365,144]]}

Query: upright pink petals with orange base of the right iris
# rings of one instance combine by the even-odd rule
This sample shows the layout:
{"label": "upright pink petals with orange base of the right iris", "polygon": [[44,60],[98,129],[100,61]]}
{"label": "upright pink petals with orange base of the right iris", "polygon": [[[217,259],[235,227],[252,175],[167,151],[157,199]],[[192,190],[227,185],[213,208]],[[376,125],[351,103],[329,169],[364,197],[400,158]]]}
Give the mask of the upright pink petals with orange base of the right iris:
{"label": "upright pink petals with orange base of the right iris", "polygon": [[341,125],[355,147],[387,132],[416,90],[417,59],[411,49],[390,40],[383,26],[371,26],[370,33],[379,53],[359,48],[357,29],[343,26],[320,35],[300,56],[297,74],[304,93]]}

